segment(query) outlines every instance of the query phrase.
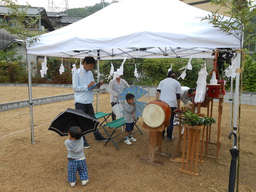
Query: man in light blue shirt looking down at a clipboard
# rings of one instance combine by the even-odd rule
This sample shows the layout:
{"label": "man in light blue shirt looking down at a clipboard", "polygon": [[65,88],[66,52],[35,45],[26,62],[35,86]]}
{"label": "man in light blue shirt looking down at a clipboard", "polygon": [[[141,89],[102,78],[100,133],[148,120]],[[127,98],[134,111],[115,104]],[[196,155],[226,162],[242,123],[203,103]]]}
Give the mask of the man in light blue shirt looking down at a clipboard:
{"label": "man in light blue shirt looking down at a clipboard", "polygon": [[[75,107],[78,110],[84,111],[86,114],[92,116],[96,119],[95,113],[93,110],[93,86],[98,88],[103,84],[103,81],[100,81],[95,85],[93,74],[91,72],[92,68],[95,66],[96,61],[93,57],[85,57],[83,60],[83,68],[78,68],[72,75],[72,85],[73,90],[75,91]],[[107,141],[107,139],[100,134],[97,130],[93,132],[95,136],[95,141]],[[83,136],[83,147],[90,148],[88,145],[85,136]]]}

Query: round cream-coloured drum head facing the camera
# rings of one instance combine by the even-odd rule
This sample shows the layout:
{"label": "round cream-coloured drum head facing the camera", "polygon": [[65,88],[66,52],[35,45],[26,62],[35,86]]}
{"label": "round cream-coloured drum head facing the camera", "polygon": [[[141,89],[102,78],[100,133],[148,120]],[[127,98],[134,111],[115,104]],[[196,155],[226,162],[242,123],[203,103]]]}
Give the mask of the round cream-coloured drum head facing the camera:
{"label": "round cream-coloured drum head facing the camera", "polygon": [[165,112],[159,105],[147,105],[142,111],[142,118],[149,127],[160,127],[165,121]]}

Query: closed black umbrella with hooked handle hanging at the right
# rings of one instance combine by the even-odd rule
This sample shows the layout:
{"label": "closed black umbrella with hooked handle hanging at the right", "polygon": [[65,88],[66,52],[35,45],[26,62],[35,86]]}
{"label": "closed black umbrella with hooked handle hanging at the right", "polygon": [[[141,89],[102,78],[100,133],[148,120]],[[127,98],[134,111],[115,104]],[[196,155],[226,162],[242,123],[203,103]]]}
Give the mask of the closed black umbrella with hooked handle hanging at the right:
{"label": "closed black umbrella with hooked handle hanging at the right", "polygon": [[234,132],[230,132],[229,139],[231,139],[231,136],[234,135],[234,146],[233,149],[230,149],[230,154],[232,156],[231,163],[230,163],[230,171],[229,171],[229,185],[228,185],[228,191],[234,192],[235,190],[235,178],[237,176],[237,157],[239,156],[239,150],[237,149],[237,134]]}

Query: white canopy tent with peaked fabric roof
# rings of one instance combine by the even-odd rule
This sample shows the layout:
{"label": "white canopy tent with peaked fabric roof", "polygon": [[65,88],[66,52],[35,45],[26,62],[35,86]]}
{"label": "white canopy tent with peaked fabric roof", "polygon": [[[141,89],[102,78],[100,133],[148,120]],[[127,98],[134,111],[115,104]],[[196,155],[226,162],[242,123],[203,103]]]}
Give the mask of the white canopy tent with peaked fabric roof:
{"label": "white canopy tent with peaked fabric roof", "polygon": [[[76,23],[40,36],[38,41],[27,46],[27,53],[97,57],[99,72],[99,60],[188,58],[193,54],[194,58],[211,58],[216,47],[239,48],[237,38],[226,35],[206,21],[201,22],[201,18],[208,14],[178,0],[112,3]],[[32,103],[30,97],[31,94],[29,100]]]}

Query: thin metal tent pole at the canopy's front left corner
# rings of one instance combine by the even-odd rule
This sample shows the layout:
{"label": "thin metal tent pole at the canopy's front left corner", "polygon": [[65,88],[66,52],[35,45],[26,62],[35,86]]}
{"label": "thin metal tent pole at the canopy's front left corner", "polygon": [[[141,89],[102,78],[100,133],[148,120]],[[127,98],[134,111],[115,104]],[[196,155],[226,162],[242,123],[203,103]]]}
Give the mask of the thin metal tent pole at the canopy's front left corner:
{"label": "thin metal tent pole at the canopy's front left corner", "polygon": [[30,109],[31,142],[32,144],[36,144],[35,138],[34,138],[31,62],[28,60],[27,54],[26,54],[26,57],[27,57],[27,63],[28,63],[27,70],[28,70],[28,96],[29,96],[29,109]]}

